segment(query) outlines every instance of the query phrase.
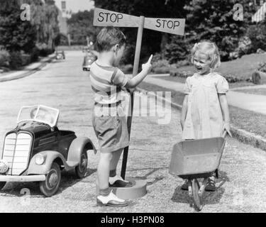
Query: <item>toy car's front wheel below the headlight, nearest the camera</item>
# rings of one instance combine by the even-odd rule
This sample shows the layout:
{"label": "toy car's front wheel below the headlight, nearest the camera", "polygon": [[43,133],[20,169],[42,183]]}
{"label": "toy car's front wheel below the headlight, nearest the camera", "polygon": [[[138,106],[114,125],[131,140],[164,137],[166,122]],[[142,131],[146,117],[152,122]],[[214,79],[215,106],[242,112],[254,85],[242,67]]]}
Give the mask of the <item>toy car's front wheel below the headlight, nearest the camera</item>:
{"label": "toy car's front wheel below the headlight, nearest the camera", "polygon": [[45,196],[52,196],[55,194],[55,192],[57,192],[60,182],[60,167],[54,162],[52,163],[50,171],[46,175],[45,181],[40,182],[40,192],[42,192]]}

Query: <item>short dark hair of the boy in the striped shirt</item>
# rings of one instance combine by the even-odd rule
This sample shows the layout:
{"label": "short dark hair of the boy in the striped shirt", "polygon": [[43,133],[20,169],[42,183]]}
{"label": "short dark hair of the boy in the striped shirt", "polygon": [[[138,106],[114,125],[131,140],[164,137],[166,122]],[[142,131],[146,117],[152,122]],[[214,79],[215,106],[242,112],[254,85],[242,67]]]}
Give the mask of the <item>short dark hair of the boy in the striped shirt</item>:
{"label": "short dark hair of the boy in the striped shirt", "polygon": [[101,29],[96,38],[96,50],[99,52],[109,51],[113,45],[118,44],[122,46],[126,43],[126,35],[124,35],[118,28],[105,27]]}

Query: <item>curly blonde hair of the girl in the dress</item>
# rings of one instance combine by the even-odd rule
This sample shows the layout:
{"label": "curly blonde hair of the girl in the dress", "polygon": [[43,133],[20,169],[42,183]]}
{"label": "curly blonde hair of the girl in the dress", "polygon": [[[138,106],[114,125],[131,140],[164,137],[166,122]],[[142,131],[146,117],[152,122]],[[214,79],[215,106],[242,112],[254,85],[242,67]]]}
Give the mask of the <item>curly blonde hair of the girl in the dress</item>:
{"label": "curly blonde hair of the girl in the dress", "polygon": [[192,63],[194,62],[194,55],[197,51],[209,57],[209,60],[211,61],[211,69],[216,69],[221,65],[219,50],[215,43],[210,41],[201,41],[196,43],[191,52]]}

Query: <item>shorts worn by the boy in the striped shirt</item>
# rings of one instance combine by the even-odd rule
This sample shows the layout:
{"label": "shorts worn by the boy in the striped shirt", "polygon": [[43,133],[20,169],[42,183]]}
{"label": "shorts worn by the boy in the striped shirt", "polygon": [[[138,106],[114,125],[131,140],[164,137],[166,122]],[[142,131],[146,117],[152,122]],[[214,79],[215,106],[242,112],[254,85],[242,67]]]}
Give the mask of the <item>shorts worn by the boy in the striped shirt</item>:
{"label": "shorts worn by the boy in the striped shirt", "polygon": [[92,126],[98,138],[101,153],[112,153],[126,148],[129,144],[128,126],[123,107],[119,104],[114,108],[117,108],[116,114],[104,116],[95,114],[97,106],[94,106],[92,111]]}

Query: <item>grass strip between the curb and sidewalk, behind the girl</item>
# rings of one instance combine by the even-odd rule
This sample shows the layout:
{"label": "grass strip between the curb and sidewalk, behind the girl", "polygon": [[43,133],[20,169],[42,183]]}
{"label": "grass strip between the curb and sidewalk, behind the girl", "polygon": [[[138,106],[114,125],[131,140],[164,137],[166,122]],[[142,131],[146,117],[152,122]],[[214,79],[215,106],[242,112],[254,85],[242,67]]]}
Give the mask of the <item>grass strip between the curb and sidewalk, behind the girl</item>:
{"label": "grass strip between the curb and sidewalk, behind the girl", "polygon": [[[153,92],[171,92],[172,102],[182,105],[184,99],[184,94],[182,92],[176,92],[174,90],[166,89],[165,87],[160,87],[145,82],[140,83],[138,87]],[[266,138],[265,114],[258,114],[253,111],[240,109],[235,106],[229,106],[229,111],[231,123],[233,123],[233,125],[238,126],[238,128],[250,133],[255,133]]]}

